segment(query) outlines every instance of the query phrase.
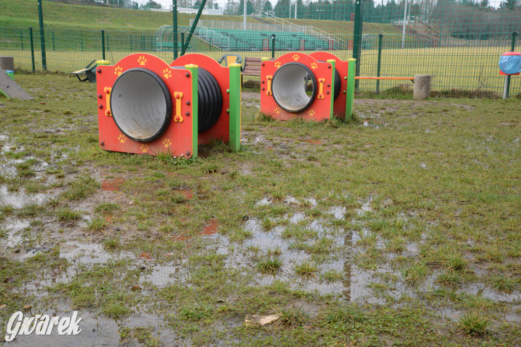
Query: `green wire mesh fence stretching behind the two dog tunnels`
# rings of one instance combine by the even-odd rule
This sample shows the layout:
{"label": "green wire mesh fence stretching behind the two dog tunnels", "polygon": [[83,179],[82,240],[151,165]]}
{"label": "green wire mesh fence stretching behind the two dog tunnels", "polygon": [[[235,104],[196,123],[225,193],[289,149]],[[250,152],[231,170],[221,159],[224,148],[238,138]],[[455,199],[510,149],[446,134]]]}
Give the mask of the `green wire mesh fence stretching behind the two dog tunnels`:
{"label": "green wire mesh fence stretching behind the two dog tunnels", "polygon": [[[32,71],[34,64],[41,71],[45,63],[46,70],[65,73],[103,56],[116,62],[130,53],[145,52],[173,60],[174,38],[180,52],[199,4],[199,0],[178,2],[175,33],[172,1],[43,1],[43,46],[38,2],[0,0],[0,54],[14,56],[17,69]],[[297,0],[290,5],[288,0],[248,0],[244,22],[244,2],[208,0],[187,52],[220,58],[228,52],[277,57],[294,50],[330,50],[347,59],[356,42],[354,12],[351,1]],[[500,95],[504,77],[499,75],[499,56],[511,50],[513,40],[515,49],[520,49],[521,37],[513,35],[521,33],[517,0],[362,0],[362,18],[359,75],[432,74],[432,89],[440,93]],[[412,84],[361,80],[358,87],[384,91]],[[521,77],[513,76],[511,94],[520,92]]]}

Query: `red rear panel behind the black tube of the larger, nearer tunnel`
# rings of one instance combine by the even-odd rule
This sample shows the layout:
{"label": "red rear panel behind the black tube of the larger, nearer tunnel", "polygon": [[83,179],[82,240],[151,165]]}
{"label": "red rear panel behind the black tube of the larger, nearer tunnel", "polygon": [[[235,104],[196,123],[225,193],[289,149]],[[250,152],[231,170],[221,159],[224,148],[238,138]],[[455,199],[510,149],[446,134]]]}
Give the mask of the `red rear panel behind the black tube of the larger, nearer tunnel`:
{"label": "red rear panel behind the black tube of the larger, nearer tunnel", "polygon": [[207,145],[213,139],[220,139],[223,142],[230,140],[230,117],[226,110],[230,109],[230,94],[227,92],[230,88],[230,68],[221,66],[215,59],[212,59],[204,54],[186,54],[174,60],[170,66],[185,66],[188,64],[195,64],[200,69],[205,69],[210,72],[222,93],[222,111],[219,120],[214,126],[207,131],[199,133],[199,144]]}

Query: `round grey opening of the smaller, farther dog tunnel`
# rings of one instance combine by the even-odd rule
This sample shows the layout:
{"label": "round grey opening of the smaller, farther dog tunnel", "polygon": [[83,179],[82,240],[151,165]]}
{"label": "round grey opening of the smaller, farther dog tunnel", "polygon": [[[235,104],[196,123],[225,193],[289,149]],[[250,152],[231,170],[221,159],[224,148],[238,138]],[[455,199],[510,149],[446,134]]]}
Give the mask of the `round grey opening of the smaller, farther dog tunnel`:
{"label": "round grey opening of the smaller, farther dog tunnel", "polygon": [[[311,95],[307,93],[309,88],[312,89]],[[301,112],[313,103],[317,94],[317,81],[307,66],[300,62],[289,62],[275,72],[271,93],[283,110]]]}

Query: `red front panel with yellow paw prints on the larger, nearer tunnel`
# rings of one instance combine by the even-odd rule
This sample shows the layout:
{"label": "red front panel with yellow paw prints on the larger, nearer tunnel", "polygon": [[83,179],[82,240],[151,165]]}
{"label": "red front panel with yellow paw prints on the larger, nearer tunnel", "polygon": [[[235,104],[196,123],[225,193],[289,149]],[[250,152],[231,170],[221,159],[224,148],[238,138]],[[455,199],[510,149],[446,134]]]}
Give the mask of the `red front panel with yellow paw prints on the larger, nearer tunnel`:
{"label": "red front panel with yellow paw prints on the larger, nearer tunnel", "polygon": [[[118,76],[132,68],[144,68],[158,74],[166,83],[172,100],[174,93],[182,93],[181,114],[192,114],[192,74],[186,69],[171,69],[163,60],[144,53],[131,54],[116,63],[114,66],[101,65],[97,67],[97,102],[100,146],[105,150],[157,155],[170,151],[172,156],[191,158],[192,148],[192,121],[190,117],[183,117],[185,121],[176,122],[174,117],[178,113],[176,103],[173,102],[172,121],[167,130],[151,142],[138,142],[125,136],[116,126],[110,114],[110,92]],[[188,75],[188,76],[187,76]],[[197,93],[197,91],[195,91]]]}

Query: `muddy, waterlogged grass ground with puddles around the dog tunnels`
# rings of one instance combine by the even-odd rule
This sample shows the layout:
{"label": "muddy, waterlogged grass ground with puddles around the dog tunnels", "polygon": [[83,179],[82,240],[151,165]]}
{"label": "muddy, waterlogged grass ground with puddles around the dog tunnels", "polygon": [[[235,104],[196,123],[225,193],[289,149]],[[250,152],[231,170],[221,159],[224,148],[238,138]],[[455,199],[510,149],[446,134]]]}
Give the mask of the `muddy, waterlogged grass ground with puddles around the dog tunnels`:
{"label": "muddy, waterlogged grass ground with puddles around the dog tunnels", "polygon": [[[59,302],[121,344],[521,339],[518,100],[356,99],[358,120],[315,124],[258,119],[249,99],[239,152],[201,145],[205,157],[174,163],[101,150],[94,84],[16,80],[36,99],[0,97],[1,321]],[[36,175],[20,178],[13,157],[34,158]],[[100,189],[113,177],[123,189]],[[71,211],[103,231],[61,219]],[[288,328],[242,325],[282,310]]]}

